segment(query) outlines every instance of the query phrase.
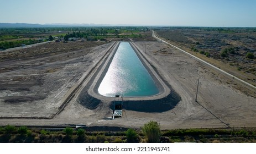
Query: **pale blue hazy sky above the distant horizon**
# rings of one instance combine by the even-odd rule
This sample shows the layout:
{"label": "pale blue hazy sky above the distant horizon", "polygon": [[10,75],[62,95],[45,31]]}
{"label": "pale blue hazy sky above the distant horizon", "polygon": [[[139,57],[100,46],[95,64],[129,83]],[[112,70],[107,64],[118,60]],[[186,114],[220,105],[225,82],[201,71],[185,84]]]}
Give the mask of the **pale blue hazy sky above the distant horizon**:
{"label": "pale blue hazy sky above the distant horizon", "polygon": [[256,0],[0,0],[0,23],[256,27]]}

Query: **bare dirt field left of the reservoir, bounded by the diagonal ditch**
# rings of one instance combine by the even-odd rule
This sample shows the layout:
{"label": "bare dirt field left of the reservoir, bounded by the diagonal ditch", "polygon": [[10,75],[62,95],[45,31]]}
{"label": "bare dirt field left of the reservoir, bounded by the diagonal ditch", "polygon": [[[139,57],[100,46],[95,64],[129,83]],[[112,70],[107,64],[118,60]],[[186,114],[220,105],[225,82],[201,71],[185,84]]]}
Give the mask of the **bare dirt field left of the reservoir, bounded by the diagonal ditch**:
{"label": "bare dirt field left of the reservoir, bounded by the diagonal ditch", "polygon": [[[95,47],[90,47],[93,43]],[[77,86],[82,75],[88,73],[90,67],[111,45],[111,43],[102,44],[49,43],[23,48],[19,52],[2,53],[1,117],[53,117],[62,105],[65,95]],[[84,49],[80,49],[79,45]],[[65,52],[65,49],[69,51]],[[14,54],[18,58],[13,58]]]}

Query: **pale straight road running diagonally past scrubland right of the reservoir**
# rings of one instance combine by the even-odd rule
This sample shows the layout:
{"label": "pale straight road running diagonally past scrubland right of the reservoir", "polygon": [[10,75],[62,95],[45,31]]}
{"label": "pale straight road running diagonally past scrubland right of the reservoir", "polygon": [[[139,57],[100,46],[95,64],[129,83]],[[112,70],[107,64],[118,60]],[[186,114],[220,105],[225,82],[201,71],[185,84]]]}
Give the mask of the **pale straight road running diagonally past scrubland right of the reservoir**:
{"label": "pale straight road running diagonally past scrubland right of the reservoir", "polygon": [[223,74],[225,74],[225,75],[228,75],[228,76],[230,76],[231,78],[236,79],[236,80],[240,81],[241,83],[243,83],[243,84],[245,84],[245,85],[247,85],[247,86],[249,86],[249,87],[252,87],[253,89],[256,89],[256,87],[255,87],[254,85],[249,84],[249,83],[247,83],[246,81],[244,81],[244,80],[242,80],[242,79],[239,79],[239,78],[237,78],[236,76],[231,75],[231,74],[225,72],[224,70],[215,67],[214,65],[212,65],[212,64],[210,64],[210,63],[207,63],[206,61],[203,61],[202,59],[200,59],[200,58],[198,58],[198,57],[196,57],[196,56],[194,56],[194,55],[192,55],[192,54],[190,54],[190,53],[188,53],[188,52],[182,50],[181,48],[178,48],[178,47],[172,45],[171,43],[168,43],[168,42],[162,40],[162,39],[159,38],[159,37],[156,37],[156,36],[155,36],[155,31],[153,31],[152,36],[153,36],[154,38],[156,38],[157,40],[160,40],[161,42],[164,42],[164,43],[166,43],[166,44],[168,44],[168,45],[170,45],[170,46],[172,46],[172,47],[177,48],[178,50],[180,50],[180,51],[182,51],[182,52],[184,52],[184,53],[186,53],[186,54],[189,54],[189,56],[191,56],[192,58],[197,59],[197,61],[200,61],[200,62],[202,62],[202,63],[204,63],[204,64],[206,64],[206,65],[208,65],[208,66],[210,66],[210,67],[212,67],[212,68],[214,68],[214,69],[220,71],[221,73],[223,73]]}

